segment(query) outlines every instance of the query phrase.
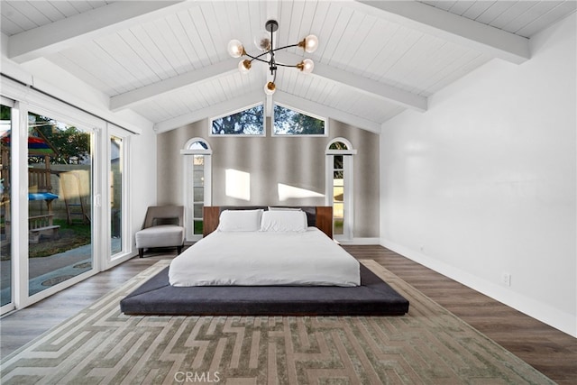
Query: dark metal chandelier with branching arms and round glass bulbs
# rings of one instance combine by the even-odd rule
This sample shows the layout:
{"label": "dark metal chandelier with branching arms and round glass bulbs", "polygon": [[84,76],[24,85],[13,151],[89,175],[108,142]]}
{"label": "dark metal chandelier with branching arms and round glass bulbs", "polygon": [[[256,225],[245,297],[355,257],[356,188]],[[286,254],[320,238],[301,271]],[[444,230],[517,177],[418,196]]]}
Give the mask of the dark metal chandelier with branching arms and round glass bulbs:
{"label": "dark metal chandelier with branching arms and round glass bulbs", "polygon": [[[258,61],[262,61],[263,63],[267,63],[269,65],[270,75],[272,76],[272,81],[269,81],[269,82],[267,82],[267,84],[264,85],[264,92],[267,95],[272,95],[272,94],[274,94],[274,91],[277,88],[276,85],[274,84],[274,82],[277,79],[278,66],[296,68],[296,69],[299,69],[300,71],[302,71],[303,73],[306,73],[306,74],[311,73],[313,71],[313,68],[315,67],[315,63],[313,62],[313,60],[310,60],[310,59],[302,60],[299,63],[294,64],[294,65],[279,63],[277,60],[275,60],[274,53],[277,50],[284,50],[284,49],[291,48],[291,47],[300,47],[303,50],[305,50],[306,52],[311,53],[311,52],[314,52],[316,50],[316,47],[318,46],[318,39],[316,38],[315,35],[308,35],[302,41],[298,41],[297,44],[291,44],[291,45],[286,45],[284,47],[274,48],[274,43],[273,43],[272,37],[273,37],[273,32],[276,32],[279,29],[279,23],[277,23],[276,20],[269,20],[267,23],[264,24],[264,28],[266,29],[266,31],[261,31],[254,38],[254,44],[256,45],[256,47],[259,50],[263,51],[260,55],[257,55],[257,56],[249,55],[248,53],[246,53],[246,50],[244,50],[243,43],[241,41],[237,41],[237,40],[232,40],[228,43],[228,53],[233,58],[240,58],[241,56],[248,56],[249,58],[251,58],[250,60],[249,59],[241,60],[241,62],[238,63],[238,69],[241,71],[241,73],[248,73],[248,71],[252,67],[252,61],[254,61],[254,60],[258,60]],[[270,36],[269,36],[269,32],[270,32]],[[265,60],[263,58],[268,58],[268,59]]]}

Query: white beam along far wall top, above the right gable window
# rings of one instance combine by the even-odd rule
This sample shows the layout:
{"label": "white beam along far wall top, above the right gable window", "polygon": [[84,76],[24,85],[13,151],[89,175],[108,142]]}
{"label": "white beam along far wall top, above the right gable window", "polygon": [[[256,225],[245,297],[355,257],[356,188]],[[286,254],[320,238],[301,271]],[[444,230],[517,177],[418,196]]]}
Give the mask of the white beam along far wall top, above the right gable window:
{"label": "white beam along far wall top, above the right gable window", "polygon": [[275,101],[283,104],[289,105],[291,107],[297,108],[303,112],[308,112],[317,116],[325,116],[327,118],[332,118],[344,124],[350,124],[354,127],[362,128],[363,130],[370,131],[371,133],[380,133],[380,123],[372,122],[361,116],[351,115],[345,113],[341,110],[329,107],[327,105],[320,105],[316,102],[303,99],[302,97],[294,96],[277,90],[274,93]]}

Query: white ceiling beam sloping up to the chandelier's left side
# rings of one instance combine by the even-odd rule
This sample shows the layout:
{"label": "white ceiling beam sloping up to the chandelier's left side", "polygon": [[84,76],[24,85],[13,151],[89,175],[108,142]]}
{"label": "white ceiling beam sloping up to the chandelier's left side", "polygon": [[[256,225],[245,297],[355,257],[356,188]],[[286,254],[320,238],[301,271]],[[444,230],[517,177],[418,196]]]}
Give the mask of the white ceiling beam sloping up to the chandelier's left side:
{"label": "white ceiling beam sloping up to the chandelier's left side", "polygon": [[238,60],[229,59],[210,65],[208,67],[189,71],[182,75],[161,80],[148,86],[133,89],[124,94],[110,98],[110,109],[119,111],[148,102],[151,99],[167,94],[184,87],[204,83],[214,78],[238,72]]}

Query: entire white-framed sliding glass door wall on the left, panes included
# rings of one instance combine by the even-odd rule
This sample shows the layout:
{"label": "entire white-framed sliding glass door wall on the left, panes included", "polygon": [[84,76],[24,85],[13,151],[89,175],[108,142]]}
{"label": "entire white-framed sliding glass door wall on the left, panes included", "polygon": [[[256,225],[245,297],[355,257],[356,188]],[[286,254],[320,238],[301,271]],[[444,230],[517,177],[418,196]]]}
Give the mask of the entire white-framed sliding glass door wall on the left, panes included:
{"label": "entire white-framed sliding glass door wall on the left, panes included", "polygon": [[[0,109],[0,314],[131,256],[131,133],[5,80]],[[97,258],[96,258],[97,256]]]}

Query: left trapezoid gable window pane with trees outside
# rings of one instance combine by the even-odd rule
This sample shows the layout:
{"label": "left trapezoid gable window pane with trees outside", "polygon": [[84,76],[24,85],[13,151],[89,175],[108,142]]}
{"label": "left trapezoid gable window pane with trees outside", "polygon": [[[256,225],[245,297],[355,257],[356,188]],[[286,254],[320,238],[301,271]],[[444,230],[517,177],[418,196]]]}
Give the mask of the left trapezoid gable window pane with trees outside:
{"label": "left trapezoid gable window pane with trees outside", "polygon": [[213,120],[212,133],[221,135],[261,135],[264,133],[264,106],[255,105],[239,113]]}

